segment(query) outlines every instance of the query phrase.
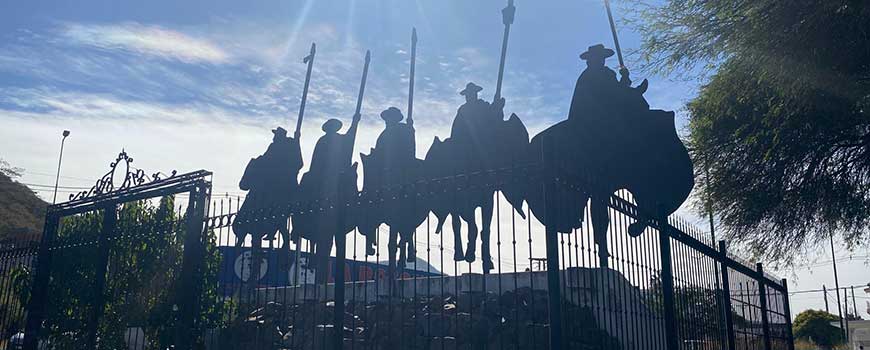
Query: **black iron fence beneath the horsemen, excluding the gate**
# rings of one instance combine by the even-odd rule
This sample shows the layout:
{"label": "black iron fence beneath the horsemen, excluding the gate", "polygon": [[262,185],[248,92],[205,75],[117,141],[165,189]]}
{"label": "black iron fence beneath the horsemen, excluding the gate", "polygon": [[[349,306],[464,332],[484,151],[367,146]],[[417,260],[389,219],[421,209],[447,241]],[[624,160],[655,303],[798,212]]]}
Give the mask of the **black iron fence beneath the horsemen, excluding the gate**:
{"label": "black iron fence beneath the horsemen, excluding the gate", "polygon": [[[533,176],[505,172],[512,174],[418,182],[360,198],[413,197],[410,203],[425,203],[445,193],[461,197],[456,193],[492,189],[499,179],[517,174]],[[709,233],[677,217],[641,213],[631,194],[620,191],[601,203],[610,223],[603,235],[594,232],[591,205],[584,205],[580,227],[553,235],[528,207],[514,210],[500,192],[492,193],[490,241],[473,244],[472,262],[455,259],[462,255],[459,249],[466,257],[469,252],[463,241],[467,223],[457,237],[450,230],[453,218],[439,225],[431,213],[414,232],[416,257],[395,273],[388,252],[396,238],[386,225],[375,232],[372,255],[365,253],[364,236],[350,232],[344,254],[336,253],[340,247],[331,251],[325,282],[314,278],[312,255],[305,253],[310,245],[276,235],[253,247],[248,239],[235,248],[247,253],[236,252],[220,270],[232,276],[222,278],[221,287],[236,307],[223,316],[232,326],[211,330],[205,344],[214,349],[792,348],[785,281],[730,257]],[[208,227],[219,245],[234,245],[231,226],[242,199],[215,200]],[[292,222],[312,211],[367,204],[296,203],[263,208],[254,216],[259,219],[246,219]],[[475,220],[481,219],[478,209]],[[641,220],[649,227],[635,237],[629,228]],[[482,261],[487,249],[492,269]]]}

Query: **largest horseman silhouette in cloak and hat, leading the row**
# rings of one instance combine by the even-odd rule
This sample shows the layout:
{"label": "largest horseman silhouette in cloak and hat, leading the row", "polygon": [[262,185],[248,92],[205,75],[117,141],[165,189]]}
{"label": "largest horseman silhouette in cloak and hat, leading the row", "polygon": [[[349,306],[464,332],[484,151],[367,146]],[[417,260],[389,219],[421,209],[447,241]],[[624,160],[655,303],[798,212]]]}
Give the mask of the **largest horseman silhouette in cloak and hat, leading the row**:
{"label": "largest horseman silhouette in cloak and hat, leading the row", "polygon": [[[578,186],[563,183],[546,194],[528,190],[526,198],[542,223],[563,233],[581,227],[591,199],[602,266],[608,257],[607,205],[615,191],[630,191],[641,213],[665,217],[694,186],[692,162],[677,136],[674,112],[650,110],[643,97],[648,82],[631,87],[625,68],[617,80],[604,64],[613,53],[599,44],[580,55],[587,68],[577,79],[568,120],[536,135],[529,147],[530,157],[541,162],[544,181],[558,178]],[[644,219],[634,222],[629,234],[637,237],[647,225]]]}

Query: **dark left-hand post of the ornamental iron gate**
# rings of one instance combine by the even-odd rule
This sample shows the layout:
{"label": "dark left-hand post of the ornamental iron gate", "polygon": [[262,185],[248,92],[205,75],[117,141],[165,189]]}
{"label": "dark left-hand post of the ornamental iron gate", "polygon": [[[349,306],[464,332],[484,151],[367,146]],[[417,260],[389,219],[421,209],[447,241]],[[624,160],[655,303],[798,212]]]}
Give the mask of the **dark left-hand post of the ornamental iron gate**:
{"label": "dark left-hand post of the ornamental iron gate", "polygon": [[39,244],[39,255],[36,260],[36,275],[33,278],[33,289],[30,291],[30,302],[27,304],[27,321],[24,328],[24,349],[37,350],[39,336],[42,332],[42,321],[45,319],[45,306],[48,304],[48,281],[51,277],[51,244],[57,236],[60,217],[48,208],[45,216],[45,228]]}

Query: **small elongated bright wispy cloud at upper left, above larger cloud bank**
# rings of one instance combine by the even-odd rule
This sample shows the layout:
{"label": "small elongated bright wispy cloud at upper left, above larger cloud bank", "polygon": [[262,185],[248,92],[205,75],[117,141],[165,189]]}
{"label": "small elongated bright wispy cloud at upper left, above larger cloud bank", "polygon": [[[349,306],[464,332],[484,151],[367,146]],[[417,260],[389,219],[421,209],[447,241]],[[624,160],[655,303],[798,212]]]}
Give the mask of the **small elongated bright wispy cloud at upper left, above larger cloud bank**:
{"label": "small elongated bright wispy cloud at upper left, above larger cloud bank", "polygon": [[68,24],[63,34],[83,45],[190,63],[225,63],[231,59],[226,51],[207,39],[135,22],[112,25]]}

